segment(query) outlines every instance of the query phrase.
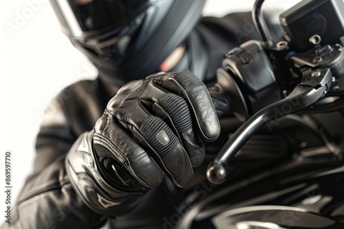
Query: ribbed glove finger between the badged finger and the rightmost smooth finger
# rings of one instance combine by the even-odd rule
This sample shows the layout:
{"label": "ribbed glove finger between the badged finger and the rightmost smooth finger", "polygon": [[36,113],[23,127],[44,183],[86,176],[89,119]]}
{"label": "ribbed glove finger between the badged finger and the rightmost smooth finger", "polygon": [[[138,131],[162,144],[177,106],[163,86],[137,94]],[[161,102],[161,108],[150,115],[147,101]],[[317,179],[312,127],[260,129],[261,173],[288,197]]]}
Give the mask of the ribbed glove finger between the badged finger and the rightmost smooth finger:
{"label": "ribbed glove finger between the badged finger and the rightmost smooth finger", "polygon": [[171,119],[171,124],[177,130],[189,155],[191,165],[199,166],[204,160],[204,144],[193,130],[193,122],[186,101],[178,95],[168,93],[155,103],[155,106],[160,109],[160,113],[164,113]]}

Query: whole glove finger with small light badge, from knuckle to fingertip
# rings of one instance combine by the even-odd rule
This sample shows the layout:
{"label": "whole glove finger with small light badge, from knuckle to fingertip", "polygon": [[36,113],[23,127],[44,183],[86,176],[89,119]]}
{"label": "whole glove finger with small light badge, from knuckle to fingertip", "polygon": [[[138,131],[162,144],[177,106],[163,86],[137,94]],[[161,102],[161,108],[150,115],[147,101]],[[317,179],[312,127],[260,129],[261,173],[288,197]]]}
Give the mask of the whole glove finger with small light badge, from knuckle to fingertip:
{"label": "whole glove finger with small light badge, from knuckle to fingertip", "polygon": [[[131,112],[127,112],[126,108],[131,108]],[[155,162],[158,162],[175,184],[178,186],[189,184],[193,178],[189,156],[178,136],[162,119],[151,115],[136,99],[123,102],[122,108],[112,111],[111,114],[136,137],[139,143],[148,148],[148,152],[152,152],[150,155]]]}

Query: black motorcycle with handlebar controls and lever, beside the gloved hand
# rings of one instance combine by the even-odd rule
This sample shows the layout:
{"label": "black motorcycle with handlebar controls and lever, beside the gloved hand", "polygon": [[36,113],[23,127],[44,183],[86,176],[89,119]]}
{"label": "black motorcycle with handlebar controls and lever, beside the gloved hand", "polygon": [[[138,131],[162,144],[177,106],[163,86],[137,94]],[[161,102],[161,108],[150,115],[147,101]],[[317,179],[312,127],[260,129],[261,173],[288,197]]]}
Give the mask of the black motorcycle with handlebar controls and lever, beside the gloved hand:
{"label": "black motorcycle with handlebar controls and lever, beside the gloved hand", "polygon": [[263,2],[260,40],[226,53],[209,88],[228,134],[166,219],[176,228],[344,228],[344,2],[301,1],[279,38]]}

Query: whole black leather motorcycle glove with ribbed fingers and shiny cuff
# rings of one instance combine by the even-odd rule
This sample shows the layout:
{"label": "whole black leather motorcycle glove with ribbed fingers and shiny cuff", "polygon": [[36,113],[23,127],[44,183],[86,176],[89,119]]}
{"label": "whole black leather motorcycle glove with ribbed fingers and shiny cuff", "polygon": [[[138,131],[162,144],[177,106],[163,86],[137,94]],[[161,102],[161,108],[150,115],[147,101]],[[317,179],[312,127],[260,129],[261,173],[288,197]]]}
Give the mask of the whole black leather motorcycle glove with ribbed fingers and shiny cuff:
{"label": "whole black leather motorcycle glove with ribbed fingers and shiny cuff", "polygon": [[95,125],[93,145],[88,143],[94,153],[85,159],[87,150],[78,153],[80,146],[74,147],[67,172],[89,207],[113,216],[145,188],[160,184],[165,174],[177,186],[189,184],[192,167],[204,159],[202,139],[214,141],[219,130],[200,79],[191,73],[158,73],[118,91]]}

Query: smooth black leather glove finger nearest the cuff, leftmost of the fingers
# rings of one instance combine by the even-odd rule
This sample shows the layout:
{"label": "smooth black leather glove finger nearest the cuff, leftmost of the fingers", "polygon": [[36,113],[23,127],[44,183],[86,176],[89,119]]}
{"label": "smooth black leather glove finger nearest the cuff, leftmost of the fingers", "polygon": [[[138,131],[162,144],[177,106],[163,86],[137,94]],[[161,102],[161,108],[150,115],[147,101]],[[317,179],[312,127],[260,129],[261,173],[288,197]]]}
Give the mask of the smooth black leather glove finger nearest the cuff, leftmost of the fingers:
{"label": "smooth black leather glove finger nearest the cuff, leftmost of the fingers", "polygon": [[149,188],[158,186],[164,178],[164,173],[153,158],[136,143],[133,136],[122,129],[119,123],[111,121],[105,128],[102,128],[100,127],[103,125],[101,122],[104,123],[104,120],[98,121],[95,127],[94,148],[96,152],[103,150],[110,152],[143,186]]}

